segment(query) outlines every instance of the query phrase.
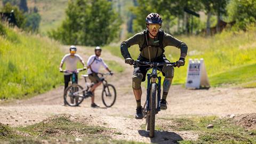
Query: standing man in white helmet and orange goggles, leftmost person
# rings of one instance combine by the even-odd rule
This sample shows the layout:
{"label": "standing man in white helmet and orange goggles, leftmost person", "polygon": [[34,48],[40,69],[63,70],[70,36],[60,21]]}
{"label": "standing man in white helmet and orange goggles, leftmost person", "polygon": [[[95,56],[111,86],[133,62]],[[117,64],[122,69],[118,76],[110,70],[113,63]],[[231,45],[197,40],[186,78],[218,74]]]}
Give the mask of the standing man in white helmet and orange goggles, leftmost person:
{"label": "standing man in white helmet and orange goggles, leftmost person", "polygon": [[[76,51],[77,51],[76,46],[71,45],[69,47],[69,54],[66,54],[60,62],[60,68],[59,68],[60,71],[63,71],[62,66],[63,66],[64,62],[66,62],[66,70],[67,71],[76,71],[77,70],[76,65],[77,65],[78,61],[80,61],[83,65],[84,69],[86,69],[85,63],[84,63],[82,57],[80,57],[80,55],[76,54]],[[69,83],[71,77],[72,77],[72,74],[64,73],[64,83],[65,83],[64,91],[68,87],[68,83]],[[78,83],[77,74],[76,74],[75,83]],[[65,101],[64,101],[64,105],[66,105]]]}

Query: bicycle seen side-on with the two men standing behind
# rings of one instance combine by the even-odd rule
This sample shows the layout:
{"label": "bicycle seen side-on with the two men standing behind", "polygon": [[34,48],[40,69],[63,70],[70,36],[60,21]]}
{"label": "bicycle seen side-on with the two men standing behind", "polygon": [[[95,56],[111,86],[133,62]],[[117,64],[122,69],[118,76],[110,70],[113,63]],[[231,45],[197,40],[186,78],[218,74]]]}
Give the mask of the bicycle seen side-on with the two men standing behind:
{"label": "bicycle seen side-on with the two men standing behind", "polygon": [[[102,102],[106,107],[111,107],[114,105],[116,101],[116,89],[114,85],[108,84],[108,82],[105,79],[105,76],[113,75],[113,73],[98,73],[98,75],[100,75],[100,79],[103,85],[101,93]],[[94,83],[87,82],[86,78],[88,77],[88,75],[81,76],[85,79],[85,87],[82,87],[77,83],[73,83],[65,89],[64,100],[68,106],[79,106],[84,99],[91,97],[87,94],[87,92],[89,91],[90,87],[94,85]],[[75,102],[72,101],[72,99],[75,99]]]}

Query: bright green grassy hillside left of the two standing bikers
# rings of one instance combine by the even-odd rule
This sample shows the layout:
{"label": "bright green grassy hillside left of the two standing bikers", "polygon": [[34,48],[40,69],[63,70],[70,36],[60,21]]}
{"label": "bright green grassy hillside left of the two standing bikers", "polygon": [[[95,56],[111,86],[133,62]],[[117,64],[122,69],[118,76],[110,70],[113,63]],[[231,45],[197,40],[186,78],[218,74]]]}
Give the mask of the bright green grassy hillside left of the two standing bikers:
{"label": "bright green grassy hillside left of the two standing bikers", "polygon": [[58,43],[1,23],[0,31],[0,99],[42,93],[62,82]]}

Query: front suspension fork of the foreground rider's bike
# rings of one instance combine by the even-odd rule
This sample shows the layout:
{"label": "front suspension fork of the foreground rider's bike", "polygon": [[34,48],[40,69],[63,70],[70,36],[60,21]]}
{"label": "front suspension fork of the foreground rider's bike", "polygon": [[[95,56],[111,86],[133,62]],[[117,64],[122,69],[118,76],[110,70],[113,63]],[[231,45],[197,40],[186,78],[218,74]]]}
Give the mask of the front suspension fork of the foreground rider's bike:
{"label": "front suspension fork of the foreground rider's bike", "polygon": [[[158,80],[158,83],[156,82],[156,79]],[[161,110],[161,108],[160,108],[160,100],[161,100],[161,76],[157,76],[157,68],[156,68],[156,67],[153,67],[151,74],[147,74],[147,80],[148,80],[148,84],[147,84],[147,100],[146,100],[146,108],[147,108],[147,111],[150,111],[149,101],[150,101],[151,85],[152,85],[153,83],[157,83],[157,85],[158,85],[158,87],[157,87],[157,108],[156,108],[156,114],[157,114],[158,111]]]}

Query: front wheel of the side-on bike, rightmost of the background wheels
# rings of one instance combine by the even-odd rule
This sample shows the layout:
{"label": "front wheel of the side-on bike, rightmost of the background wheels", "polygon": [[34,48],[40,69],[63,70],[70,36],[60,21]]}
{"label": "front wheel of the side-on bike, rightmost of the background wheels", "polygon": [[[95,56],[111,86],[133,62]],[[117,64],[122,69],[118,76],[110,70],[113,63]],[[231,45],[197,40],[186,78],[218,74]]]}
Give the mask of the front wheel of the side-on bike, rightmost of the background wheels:
{"label": "front wheel of the side-on bike, rightmost of the background wheels", "polygon": [[106,107],[111,107],[116,101],[116,89],[113,85],[107,84],[103,87],[101,94],[102,102]]}

